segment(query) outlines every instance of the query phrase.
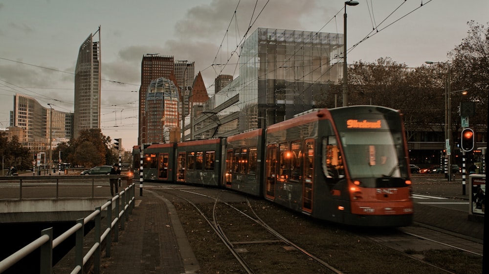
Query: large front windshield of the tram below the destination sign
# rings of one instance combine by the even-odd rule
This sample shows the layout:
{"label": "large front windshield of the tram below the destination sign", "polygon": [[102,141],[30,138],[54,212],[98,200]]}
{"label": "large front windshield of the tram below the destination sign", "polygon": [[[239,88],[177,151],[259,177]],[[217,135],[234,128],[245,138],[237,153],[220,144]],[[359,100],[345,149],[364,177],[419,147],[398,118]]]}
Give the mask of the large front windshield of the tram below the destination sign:
{"label": "large front windshield of the tram below the destination sign", "polygon": [[408,176],[400,132],[349,130],[340,137],[352,178]]}

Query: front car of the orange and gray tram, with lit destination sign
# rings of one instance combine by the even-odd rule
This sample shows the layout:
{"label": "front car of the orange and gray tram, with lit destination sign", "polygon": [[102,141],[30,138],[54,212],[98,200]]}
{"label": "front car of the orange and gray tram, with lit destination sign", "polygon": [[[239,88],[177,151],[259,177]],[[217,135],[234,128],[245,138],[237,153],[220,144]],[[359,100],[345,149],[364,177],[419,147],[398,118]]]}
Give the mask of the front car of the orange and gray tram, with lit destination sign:
{"label": "front car of the orange and gray tram, with lit destination sign", "polygon": [[398,111],[313,110],[267,128],[265,198],[333,222],[406,226],[413,201]]}

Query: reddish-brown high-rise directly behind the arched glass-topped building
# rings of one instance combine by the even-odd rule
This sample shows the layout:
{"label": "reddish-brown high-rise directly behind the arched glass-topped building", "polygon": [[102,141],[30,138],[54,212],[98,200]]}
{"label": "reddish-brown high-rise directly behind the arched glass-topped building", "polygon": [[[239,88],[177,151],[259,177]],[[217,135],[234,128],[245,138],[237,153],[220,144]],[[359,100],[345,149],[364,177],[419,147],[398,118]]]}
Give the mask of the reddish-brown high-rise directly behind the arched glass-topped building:
{"label": "reddish-brown high-rise directly behind the arched glass-topped building", "polygon": [[[173,56],[146,54],[141,61],[141,86],[139,87],[139,132],[138,143],[147,143],[146,136],[146,93],[152,80],[167,78],[175,81],[175,63]],[[175,83],[174,82],[174,83]]]}

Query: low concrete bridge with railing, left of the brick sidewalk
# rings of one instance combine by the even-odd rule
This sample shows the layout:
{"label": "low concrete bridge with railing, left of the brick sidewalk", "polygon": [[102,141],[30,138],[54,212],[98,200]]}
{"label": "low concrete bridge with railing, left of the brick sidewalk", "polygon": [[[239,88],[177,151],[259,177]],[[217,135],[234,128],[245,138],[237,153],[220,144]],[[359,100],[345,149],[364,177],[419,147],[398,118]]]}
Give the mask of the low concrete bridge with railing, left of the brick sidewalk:
{"label": "low concrete bridge with railing, left of the brick sidewalk", "polygon": [[0,223],[73,221],[111,199],[110,178],[132,176],[0,176]]}

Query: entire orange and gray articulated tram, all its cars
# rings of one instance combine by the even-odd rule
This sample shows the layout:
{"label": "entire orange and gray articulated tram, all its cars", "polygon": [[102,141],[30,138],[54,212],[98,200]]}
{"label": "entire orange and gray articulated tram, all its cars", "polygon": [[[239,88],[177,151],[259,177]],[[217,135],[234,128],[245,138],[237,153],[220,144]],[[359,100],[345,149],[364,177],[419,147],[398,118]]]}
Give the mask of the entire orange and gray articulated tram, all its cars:
{"label": "entire orange and gray articulated tram, all its cars", "polygon": [[413,221],[402,116],[390,108],[316,109],[267,129],[144,152],[144,179],[232,189],[349,225]]}

